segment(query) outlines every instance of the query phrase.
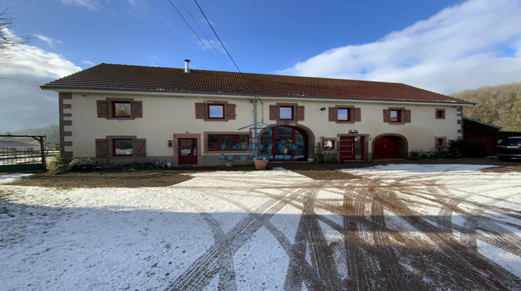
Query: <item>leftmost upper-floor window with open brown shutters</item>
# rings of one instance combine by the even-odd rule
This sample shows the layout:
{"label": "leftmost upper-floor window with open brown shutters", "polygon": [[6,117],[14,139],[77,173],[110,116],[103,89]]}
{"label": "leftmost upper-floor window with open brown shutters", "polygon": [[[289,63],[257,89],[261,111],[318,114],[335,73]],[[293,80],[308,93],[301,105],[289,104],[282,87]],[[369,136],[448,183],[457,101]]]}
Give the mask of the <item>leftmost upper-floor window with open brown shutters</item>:
{"label": "leftmost upper-floor window with open brown shutters", "polygon": [[97,100],[96,103],[99,118],[134,119],[143,117],[142,102],[132,98],[106,98]]}

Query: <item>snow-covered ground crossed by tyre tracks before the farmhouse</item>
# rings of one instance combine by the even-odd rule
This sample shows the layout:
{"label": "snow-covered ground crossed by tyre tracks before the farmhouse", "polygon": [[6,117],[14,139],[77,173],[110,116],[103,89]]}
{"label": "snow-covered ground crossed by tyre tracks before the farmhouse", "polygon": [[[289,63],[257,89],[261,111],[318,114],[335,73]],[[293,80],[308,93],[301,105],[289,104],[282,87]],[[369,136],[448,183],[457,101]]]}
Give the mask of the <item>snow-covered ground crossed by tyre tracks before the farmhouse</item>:
{"label": "snow-covered ground crossed by tyre tracks before the farmhouse", "polygon": [[[349,182],[315,181],[281,169],[195,173],[162,188],[69,190],[8,186],[4,183],[22,174],[0,175],[0,289],[306,290],[308,282],[322,279],[320,272],[306,279],[313,272],[307,266],[321,267],[312,246],[320,244],[333,254],[324,263],[328,272],[338,273],[342,282],[355,280],[346,265],[341,214],[347,195],[374,185],[391,189],[386,197],[402,199],[400,207],[424,222],[400,216],[402,208],[383,209],[385,227],[402,233],[402,240],[386,241],[395,246],[415,238],[436,241],[418,227],[449,227],[451,241],[475,247],[479,258],[520,280],[521,173],[479,171],[487,167],[388,165],[349,170],[361,177]],[[442,202],[454,207],[449,211]],[[320,236],[310,238],[313,243],[302,237],[303,213],[318,217]],[[372,242],[362,230],[357,229],[360,239]],[[399,265],[422,283],[442,283],[422,275],[412,258],[405,260]],[[292,268],[306,275],[290,278],[298,273]]]}

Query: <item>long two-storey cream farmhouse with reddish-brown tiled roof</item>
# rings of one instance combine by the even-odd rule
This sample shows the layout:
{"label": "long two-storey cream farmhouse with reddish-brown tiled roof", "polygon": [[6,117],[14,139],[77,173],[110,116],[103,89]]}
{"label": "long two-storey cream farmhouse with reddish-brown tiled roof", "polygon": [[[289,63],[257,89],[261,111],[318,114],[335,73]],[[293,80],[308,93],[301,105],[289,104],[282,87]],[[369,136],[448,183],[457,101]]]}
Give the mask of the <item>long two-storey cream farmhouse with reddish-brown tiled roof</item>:
{"label": "long two-storey cream farmhouse with reddish-brown tiled roof", "polygon": [[99,64],[58,92],[60,144],[100,163],[407,157],[463,137],[464,100],[392,82]]}

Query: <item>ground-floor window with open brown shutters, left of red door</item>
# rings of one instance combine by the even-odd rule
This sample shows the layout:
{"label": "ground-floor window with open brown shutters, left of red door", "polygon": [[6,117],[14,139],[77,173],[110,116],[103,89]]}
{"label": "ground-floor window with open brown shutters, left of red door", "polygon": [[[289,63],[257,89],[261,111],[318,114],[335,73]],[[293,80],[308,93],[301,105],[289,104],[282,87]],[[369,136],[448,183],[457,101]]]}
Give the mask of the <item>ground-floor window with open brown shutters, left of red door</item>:
{"label": "ground-floor window with open brown shutters, left of red door", "polygon": [[147,156],[145,139],[135,136],[106,136],[105,139],[96,139],[97,158],[135,158]]}

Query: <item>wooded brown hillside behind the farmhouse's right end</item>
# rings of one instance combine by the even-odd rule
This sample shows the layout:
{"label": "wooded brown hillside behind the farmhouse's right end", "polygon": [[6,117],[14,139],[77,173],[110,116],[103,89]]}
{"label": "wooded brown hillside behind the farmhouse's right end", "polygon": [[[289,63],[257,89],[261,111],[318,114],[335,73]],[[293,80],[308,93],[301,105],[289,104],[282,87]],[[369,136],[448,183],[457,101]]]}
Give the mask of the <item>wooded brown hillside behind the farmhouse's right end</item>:
{"label": "wooded brown hillside behind the farmhouse's right end", "polygon": [[450,94],[476,105],[463,107],[463,115],[521,132],[521,83],[481,87]]}

